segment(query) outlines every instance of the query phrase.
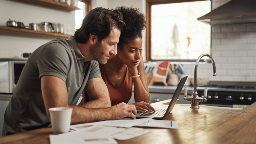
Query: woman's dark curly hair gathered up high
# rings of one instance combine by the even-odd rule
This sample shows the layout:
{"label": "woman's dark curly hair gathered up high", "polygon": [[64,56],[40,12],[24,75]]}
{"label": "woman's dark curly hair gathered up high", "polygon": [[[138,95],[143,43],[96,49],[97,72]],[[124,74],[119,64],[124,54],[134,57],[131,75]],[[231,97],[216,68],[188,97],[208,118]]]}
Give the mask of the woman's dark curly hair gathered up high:
{"label": "woman's dark curly hair gathered up high", "polygon": [[122,50],[124,44],[129,44],[130,40],[138,37],[142,38],[142,32],[147,28],[147,20],[138,8],[121,6],[116,7],[123,15],[123,21],[126,24],[126,30],[121,32],[119,43],[117,44]]}

